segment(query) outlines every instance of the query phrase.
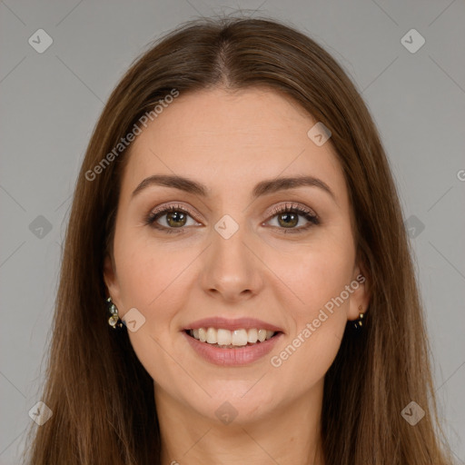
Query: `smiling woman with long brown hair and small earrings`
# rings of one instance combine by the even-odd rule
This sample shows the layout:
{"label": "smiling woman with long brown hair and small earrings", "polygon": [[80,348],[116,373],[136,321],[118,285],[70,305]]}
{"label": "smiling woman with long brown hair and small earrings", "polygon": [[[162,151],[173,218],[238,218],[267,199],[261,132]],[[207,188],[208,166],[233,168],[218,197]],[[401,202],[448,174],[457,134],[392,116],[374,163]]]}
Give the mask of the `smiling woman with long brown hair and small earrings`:
{"label": "smiling woman with long brown hair and small earrings", "polygon": [[34,464],[452,463],[389,164],[312,39],[197,21],[124,75],[76,184],[42,401]]}

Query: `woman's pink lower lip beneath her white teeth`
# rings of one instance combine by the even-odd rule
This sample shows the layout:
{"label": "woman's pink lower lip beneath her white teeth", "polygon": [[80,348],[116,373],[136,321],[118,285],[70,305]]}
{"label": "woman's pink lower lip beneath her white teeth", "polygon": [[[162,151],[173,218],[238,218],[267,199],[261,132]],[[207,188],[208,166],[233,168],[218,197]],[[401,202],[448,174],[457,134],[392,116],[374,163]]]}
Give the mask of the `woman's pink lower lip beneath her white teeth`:
{"label": "woman's pink lower lip beneath her white teeth", "polygon": [[201,342],[183,331],[183,335],[191,344],[191,347],[204,360],[210,361],[220,366],[243,366],[249,365],[264,357],[272,351],[276,342],[281,338],[282,332],[276,334],[271,339],[263,342],[256,342],[253,345],[245,345],[237,349],[222,349],[207,342]]}

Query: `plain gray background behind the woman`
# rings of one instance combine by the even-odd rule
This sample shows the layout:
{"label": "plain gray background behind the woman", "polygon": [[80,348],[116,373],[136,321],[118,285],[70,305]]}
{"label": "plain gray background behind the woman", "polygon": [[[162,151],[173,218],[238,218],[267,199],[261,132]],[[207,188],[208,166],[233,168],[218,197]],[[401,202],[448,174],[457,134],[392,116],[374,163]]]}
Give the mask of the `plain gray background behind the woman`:
{"label": "plain gray background behind the woman", "polygon": [[[311,35],[371,110],[411,231],[440,418],[465,463],[465,5],[458,0],[0,1],[0,463],[17,462],[28,411],[40,400],[64,227],[104,101],[154,38],[238,7]],[[43,54],[28,43],[41,28],[53,38]],[[411,28],[426,40],[413,54],[401,43]]]}

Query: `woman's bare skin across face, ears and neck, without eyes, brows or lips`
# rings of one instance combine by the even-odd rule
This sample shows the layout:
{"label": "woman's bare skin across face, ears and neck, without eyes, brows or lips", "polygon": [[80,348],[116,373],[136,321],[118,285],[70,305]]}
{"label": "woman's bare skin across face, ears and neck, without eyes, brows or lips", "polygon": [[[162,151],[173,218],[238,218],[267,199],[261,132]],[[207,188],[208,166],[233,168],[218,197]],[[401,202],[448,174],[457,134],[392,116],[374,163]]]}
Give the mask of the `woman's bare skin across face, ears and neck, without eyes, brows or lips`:
{"label": "woman's bare skin across face, ears and neck, without eyes, brows or lips", "polygon": [[[128,334],[154,380],[163,463],[323,464],[324,375],[346,322],[358,318],[359,306],[363,312],[368,306],[368,281],[280,367],[270,362],[326,302],[364,274],[356,262],[341,166],[331,142],[319,147],[307,136],[315,123],[276,92],[215,88],[181,94],[131,147],[114,260],[105,259],[104,281],[121,318],[132,308],[145,318]],[[211,196],[153,185],[132,199],[138,184],[155,173],[189,177],[205,184]],[[335,200],[304,186],[252,202],[256,183],[302,174],[327,183]],[[282,233],[285,223],[270,211],[289,202],[312,209],[321,223]],[[183,232],[163,233],[143,223],[162,203],[180,203],[194,213]],[[214,229],[224,214],[239,225],[227,240]],[[294,230],[308,223],[298,218]],[[175,229],[179,221],[166,220],[165,214],[157,223]],[[199,357],[181,332],[213,316],[258,318],[284,335],[259,361],[220,367]],[[227,425],[215,415],[224,401],[237,411]]]}

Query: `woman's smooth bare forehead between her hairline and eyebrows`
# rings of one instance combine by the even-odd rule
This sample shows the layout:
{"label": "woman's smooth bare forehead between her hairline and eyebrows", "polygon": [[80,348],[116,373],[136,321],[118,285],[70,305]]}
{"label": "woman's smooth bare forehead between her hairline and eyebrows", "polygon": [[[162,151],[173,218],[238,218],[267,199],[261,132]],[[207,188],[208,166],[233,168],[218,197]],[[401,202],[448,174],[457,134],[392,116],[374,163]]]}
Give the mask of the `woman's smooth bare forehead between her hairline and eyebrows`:
{"label": "woman's smooth bare forehead between her hairline and eyebrows", "polygon": [[165,173],[193,178],[213,193],[239,193],[262,179],[308,174],[343,197],[331,143],[317,146],[307,135],[316,123],[292,99],[267,89],[180,94],[134,140],[123,196],[145,177]]}

